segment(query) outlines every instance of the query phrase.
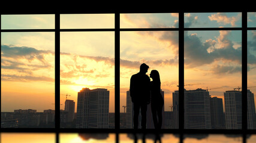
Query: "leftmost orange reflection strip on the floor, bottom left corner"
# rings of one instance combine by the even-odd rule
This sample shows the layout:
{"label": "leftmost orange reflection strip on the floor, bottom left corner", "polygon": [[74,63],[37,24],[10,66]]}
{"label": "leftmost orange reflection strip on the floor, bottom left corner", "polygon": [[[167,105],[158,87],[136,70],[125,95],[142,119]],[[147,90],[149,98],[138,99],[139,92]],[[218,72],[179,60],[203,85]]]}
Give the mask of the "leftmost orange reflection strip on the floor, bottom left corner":
{"label": "leftmost orange reflection strip on the floor, bottom left corner", "polygon": [[19,142],[19,143],[55,143],[55,133],[1,133],[2,143]]}

